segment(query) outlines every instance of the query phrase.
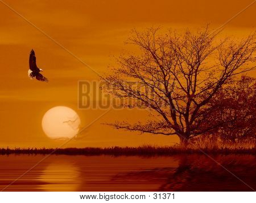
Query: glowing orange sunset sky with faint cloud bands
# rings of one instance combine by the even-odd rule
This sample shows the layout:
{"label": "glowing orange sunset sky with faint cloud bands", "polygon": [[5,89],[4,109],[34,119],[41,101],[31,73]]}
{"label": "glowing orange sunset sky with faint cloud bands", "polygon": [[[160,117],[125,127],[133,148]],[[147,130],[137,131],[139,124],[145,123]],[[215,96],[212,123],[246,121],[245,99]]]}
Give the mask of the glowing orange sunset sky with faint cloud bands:
{"label": "glowing orange sunset sky with faint cloud bands", "polygon": [[[183,29],[210,23],[217,28],[252,0],[232,1],[10,1],[19,14],[51,36],[98,73],[113,65],[132,28],[148,26]],[[44,135],[41,121],[53,106],[68,106],[88,125],[104,110],[77,109],[77,81],[98,76],[26,20],[0,2],[0,147],[57,147]],[[256,3],[225,26],[223,34],[243,36],[256,26]],[[35,49],[37,64],[49,78],[48,84],[27,77],[28,56]],[[253,72],[255,76],[255,72]],[[170,136],[140,135],[117,131],[104,122],[144,118],[146,113],[111,110],[64,147],[167,145]]]}

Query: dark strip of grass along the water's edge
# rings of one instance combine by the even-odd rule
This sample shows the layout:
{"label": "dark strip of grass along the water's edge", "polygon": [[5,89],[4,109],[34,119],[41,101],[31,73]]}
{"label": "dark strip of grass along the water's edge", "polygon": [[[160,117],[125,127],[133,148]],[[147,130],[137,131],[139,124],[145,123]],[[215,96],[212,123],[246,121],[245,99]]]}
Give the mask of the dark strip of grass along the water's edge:
{"label": "dark strip of grass along the water's edge", "polygon": [[85,148],[0,148],[0,155],[27,154],[27,155],[114,155],[114,156],[155,156],[175,154],[251,154],[256,155],[256,148],[181,148],[181,147],[85,147]]}

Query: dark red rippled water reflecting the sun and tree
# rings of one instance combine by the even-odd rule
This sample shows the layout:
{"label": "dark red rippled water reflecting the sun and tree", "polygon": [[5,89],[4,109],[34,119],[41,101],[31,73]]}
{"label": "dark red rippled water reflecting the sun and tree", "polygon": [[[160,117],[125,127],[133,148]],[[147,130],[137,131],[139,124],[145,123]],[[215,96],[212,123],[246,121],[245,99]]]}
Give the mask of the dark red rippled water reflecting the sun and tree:
{"label": "dark red rippled water reflecting the sun and tree", "polygon": [[[212,156],[226,169],[204,155],[150,158],[51,155],[47,159],[44,158],[46,156],[43,155],[0,155],[0,190],[251,191],[256,189],[256,161],[253,155]],[[42,159],[44,160],[35,166]],[[31,171],[27,172],[30,168]],[[18,177],[20,178],[17,179]],[[9,186],[6,187],[7,185]]]}

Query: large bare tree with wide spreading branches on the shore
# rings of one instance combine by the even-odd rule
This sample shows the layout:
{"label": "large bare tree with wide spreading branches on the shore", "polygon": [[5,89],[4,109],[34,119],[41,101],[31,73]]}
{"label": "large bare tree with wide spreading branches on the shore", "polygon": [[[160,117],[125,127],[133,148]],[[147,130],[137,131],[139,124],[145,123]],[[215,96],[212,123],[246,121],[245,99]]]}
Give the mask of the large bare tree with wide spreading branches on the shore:
{"label": "large bare tree with wide spreading branches on the shore", "polygon": [[[221,125],[205,125],[205,119],[216,108],[210,101],[237,74],[255,68],[255,33],[236,42],[230,38],[218,40],[208,28],[182,34],[158,32],[159,28],[134,30],[129,43],[139,47],[141,53],[121,55],[118,66],[104,77],[111,94],[139,101],[157,119],[111,125],[177,135],[186,144],[188,139]],[[140,88],[130,85],[130,81],[140,84]],[[137,107],[138,103],[128,106]]]}

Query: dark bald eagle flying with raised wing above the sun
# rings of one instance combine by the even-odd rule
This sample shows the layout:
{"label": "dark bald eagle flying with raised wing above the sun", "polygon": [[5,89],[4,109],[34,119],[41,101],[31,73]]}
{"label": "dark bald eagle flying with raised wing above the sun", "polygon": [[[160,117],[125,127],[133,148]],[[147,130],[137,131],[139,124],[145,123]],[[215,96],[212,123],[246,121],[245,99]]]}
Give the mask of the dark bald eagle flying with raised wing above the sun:
{"label": "dark bald eagle flying with raised wing above the sun", "polygon": [[40,71],[43,71],[42,69],[38,68],[36,65],[36,57],[35,57],[35,52],[32,49],[30,52],[30,69],[28,69],[28,77],[33,79],[34,77],[36,80],[43,81],[43,82],[48,82],[48,79],[44,77]]}

